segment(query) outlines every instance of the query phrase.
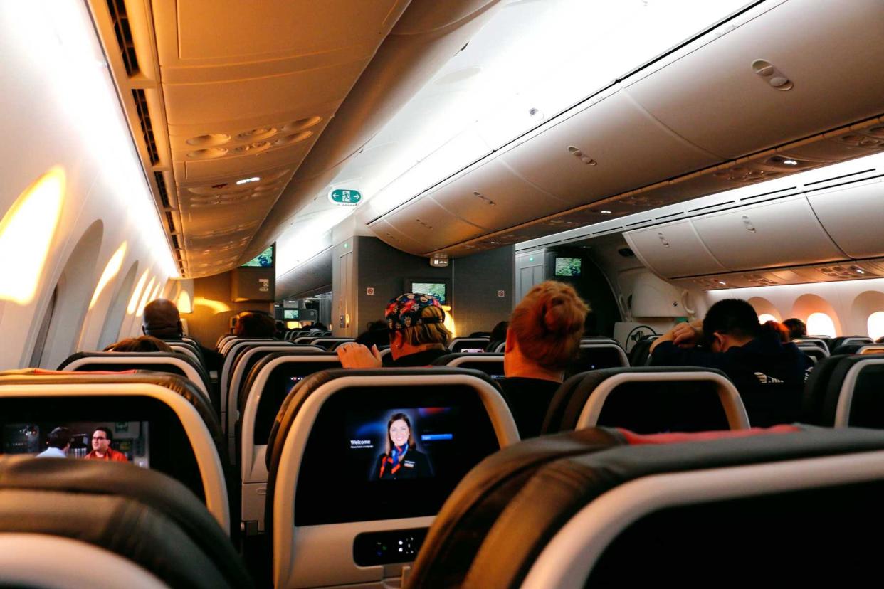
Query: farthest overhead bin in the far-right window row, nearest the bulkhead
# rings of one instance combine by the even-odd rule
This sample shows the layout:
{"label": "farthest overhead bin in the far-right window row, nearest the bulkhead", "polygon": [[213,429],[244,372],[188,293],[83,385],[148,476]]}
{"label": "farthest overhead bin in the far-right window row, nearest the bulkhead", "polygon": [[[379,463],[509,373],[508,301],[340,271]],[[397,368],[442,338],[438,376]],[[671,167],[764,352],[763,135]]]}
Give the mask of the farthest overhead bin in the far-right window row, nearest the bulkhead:
{"label": "farthest overhead bin in the far-right window row, nearest the bulkhead", "polygon": [[624,234],[638,259],[659,276],[697,276],[727,272],[709,253],[690,220]]}

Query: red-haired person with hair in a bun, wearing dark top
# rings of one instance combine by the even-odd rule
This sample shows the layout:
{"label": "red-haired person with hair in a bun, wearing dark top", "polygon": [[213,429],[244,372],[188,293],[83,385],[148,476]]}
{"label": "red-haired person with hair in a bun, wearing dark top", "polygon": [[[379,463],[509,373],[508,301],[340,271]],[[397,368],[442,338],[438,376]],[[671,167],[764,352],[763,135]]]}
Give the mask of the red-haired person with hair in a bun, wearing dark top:
{"label": "red-haired person with hair in a bun, wearing dark top", "polygon": [[501,386],[522,440],[540,434],[565,368],[580,351],[586,312],[572,286],[552,280],[533,286],[515,307]]}

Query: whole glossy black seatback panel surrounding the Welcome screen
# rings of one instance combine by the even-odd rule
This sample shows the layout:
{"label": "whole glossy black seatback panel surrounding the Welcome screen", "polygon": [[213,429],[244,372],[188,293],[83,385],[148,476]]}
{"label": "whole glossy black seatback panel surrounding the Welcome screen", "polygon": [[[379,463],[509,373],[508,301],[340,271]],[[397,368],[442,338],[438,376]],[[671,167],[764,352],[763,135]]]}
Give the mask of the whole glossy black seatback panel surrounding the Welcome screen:
{"label": "whole glossy black seatback panel surrounding the Welcome screen", "polygon": [[[498,449],[474,389],[341,390],[310,429],[295,525],[435,515],[463,476]],[[341,500],[329,501],[330,494]]]}

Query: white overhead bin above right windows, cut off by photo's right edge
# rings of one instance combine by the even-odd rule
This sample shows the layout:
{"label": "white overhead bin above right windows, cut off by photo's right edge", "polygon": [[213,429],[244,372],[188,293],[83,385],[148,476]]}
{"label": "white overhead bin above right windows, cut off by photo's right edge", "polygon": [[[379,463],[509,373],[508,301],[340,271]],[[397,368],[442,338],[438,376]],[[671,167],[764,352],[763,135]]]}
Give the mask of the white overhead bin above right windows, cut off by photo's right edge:
{"label": "white overhead bin above right windows, cut off by photo's right edge", "polygon": [[810,193],[813,212],[851,258],[884,256],[884,182],[847,185]]}

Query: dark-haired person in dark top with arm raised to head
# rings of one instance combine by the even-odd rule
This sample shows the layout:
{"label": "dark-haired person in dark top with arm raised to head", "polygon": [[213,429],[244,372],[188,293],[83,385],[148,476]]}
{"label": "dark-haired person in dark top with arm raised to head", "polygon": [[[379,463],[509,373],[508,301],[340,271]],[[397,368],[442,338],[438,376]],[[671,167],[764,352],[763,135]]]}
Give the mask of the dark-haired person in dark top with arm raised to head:
{"label": "dark-haired person in dark top with arm raised to head", "polygon": [[795,344],[781,342],[775,325],[760,325],[743,299],[726,298],[702,322],[679,323],[654,340],[652,365],[718,368],[740,391],[753,426],[792,421],[800,411],[808,361]]}

